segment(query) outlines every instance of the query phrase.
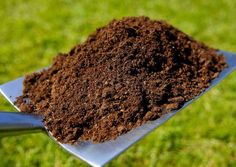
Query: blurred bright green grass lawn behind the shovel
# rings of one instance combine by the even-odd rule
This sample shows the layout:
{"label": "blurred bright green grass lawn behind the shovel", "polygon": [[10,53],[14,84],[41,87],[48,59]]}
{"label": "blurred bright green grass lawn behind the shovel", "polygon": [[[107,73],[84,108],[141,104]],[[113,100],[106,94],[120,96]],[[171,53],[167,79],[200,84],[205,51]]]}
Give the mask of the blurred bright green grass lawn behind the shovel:
{"label": "blurred bright green grass lawn behind the shovel", "polygon": [[[113,18],[165,19],[236,53],[236,1],[0,1],[0,84],[49,65]],[[236,73],[107,166],[236,166]],[[0,109],[14,110],[1,96]],[[87,166],[44,134],[0,139],[1,167]]]}

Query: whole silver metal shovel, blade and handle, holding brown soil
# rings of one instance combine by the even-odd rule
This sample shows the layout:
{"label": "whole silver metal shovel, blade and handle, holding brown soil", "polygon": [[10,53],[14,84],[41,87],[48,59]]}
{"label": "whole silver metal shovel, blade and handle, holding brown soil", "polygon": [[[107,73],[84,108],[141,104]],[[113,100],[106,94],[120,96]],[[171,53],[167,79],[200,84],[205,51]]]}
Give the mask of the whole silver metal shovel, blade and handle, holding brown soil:
{"label": "whole silver metal shovel, blade and handle, holding brown soil", "polygon": [[[186,102],[184,106],[179,110],[169,112],[155,121],[149,121],[146,124],[137,127],[124,135],[119,136],[115,140],[96,144],[89,141],[78,141],[78,144],[73,145],[60,143],[44,127],[41,117],[20,112],[0,112],[0,136],[44,131],[47,132],[48,136],[52,138],[57,144],[59,144],[62,148],[75,155],[76,157],[84,160],[92,166],[103,166],[114,157],[121,154],[131,145],[136,143],[138,140],[146,136],[152,130],[166,122],[178,111],[181,111],[184,107],[209,91],[213,86],[227,77],[231,72],[236,70],[236,54],[224,51],[219,51],[219,53],[224,55],[228,67],[225,68],[220,73],[220,75],[212,81],[209,88],[207,88],[199,96]],[[0,92],[18,111],[19,108],[14,105],[14,101],[16,100],[16,97],[22,94],[23,80],[24,78],[22,77],[0,85]]]}

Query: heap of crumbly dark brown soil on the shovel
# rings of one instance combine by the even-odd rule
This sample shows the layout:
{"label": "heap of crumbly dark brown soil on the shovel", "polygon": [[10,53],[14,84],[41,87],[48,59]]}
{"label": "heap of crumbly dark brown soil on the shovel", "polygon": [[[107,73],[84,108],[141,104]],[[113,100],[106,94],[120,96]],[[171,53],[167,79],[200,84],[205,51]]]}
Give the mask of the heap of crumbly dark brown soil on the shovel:
{"label": "heap of crumbly dark brown soil on the shovel", "polygon": [[52,66],[27,75],[16,104],[63,143],[115,139],[199,95],[226,67],[165,21],[113,20]]}

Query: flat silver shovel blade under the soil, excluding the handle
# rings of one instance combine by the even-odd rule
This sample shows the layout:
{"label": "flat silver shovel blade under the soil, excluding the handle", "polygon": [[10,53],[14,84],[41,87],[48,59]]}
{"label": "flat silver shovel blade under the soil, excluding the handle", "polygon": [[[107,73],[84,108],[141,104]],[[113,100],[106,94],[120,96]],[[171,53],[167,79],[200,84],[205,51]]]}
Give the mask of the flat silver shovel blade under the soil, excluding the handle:
{"label": "flat silver shovel blade under the soil, excluding the handle", "polygon": [[[229,65],[224,71],[221,72],[220,76],[216,78],[211,86],[203,92],[200,96],[206,93],[209,89],[219,83],[222,79],[224,79],[227,75],[229,75],[232,71],[236,69],[236,55],[223,52],[227,63]],[[12,104],[15,101],[15,98],[21,95],[22,92],[22,81],[23,78],[19,78],[17,80],[8,82],[0,86],[1,93],[7,98],[7,100]],[[180,110],[184,107],[189,105],[191,102],[199,98],[200,96],[196,97],[195,99],[186,103]],[[16,106],[15,106],[16,107]],[[16,107],[17,108],[17,107]],[[155,121],[150,121],[129,133],[118,137],[116,140],[107,141],[100,144],[93,144],[91,142],[79,142],[76,145],[69,145],[69,144],[62,144],[61,145],[64,149],[69,151],[70,153],[74,154],[75,156],[79,157],[80,159],[86,161],[92,166],[103,166],[105,163],[109,162],[111,159],[125,151],[128,147],[136,143],[138,140],[143,138],[145,135],[150,133],[153,129],[157,128],[168,119],[170,119],[173,115],[175,115],[178,111],[173,111],[166,115],[163,115],[161,118]],[[49,136],[51,136],[49,134]],[[52,136],[51,136],[52,137]],[[53,137],[52,137],[53,138]],[[54,139],[55,140],[55,139]]]}

